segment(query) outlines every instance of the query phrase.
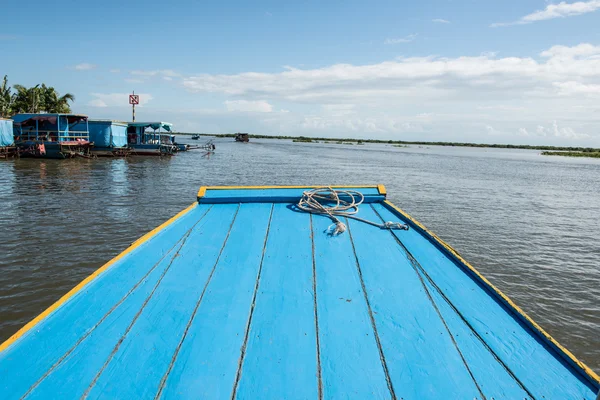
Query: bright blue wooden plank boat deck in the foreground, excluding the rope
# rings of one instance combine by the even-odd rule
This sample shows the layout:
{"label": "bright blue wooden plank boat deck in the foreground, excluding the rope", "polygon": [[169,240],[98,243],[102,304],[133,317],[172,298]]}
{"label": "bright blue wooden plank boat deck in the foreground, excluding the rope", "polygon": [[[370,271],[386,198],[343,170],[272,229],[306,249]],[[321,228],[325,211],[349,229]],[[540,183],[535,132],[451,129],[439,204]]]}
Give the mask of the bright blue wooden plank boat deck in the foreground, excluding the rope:
{"label": "bright blue wooden plank boat deck in the foreground, excluding the rope", "polygon": [[[416,222],[203,189],[0,347],[2,399],[596,399],[597,376]],[[46,315],[47,314],[47,315]]]}

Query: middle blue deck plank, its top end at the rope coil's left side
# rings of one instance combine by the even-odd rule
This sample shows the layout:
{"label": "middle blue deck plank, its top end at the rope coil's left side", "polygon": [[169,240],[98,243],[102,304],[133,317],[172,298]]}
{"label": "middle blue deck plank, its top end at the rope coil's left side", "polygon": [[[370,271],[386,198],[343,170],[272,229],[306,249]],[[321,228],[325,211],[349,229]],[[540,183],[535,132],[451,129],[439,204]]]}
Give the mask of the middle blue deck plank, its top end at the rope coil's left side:
{"label": "middle blue deck plank, its top end at the rope coil's left side", "polygon": [[316,399],[310,218],[275,204],[237,388],[239,399]]}

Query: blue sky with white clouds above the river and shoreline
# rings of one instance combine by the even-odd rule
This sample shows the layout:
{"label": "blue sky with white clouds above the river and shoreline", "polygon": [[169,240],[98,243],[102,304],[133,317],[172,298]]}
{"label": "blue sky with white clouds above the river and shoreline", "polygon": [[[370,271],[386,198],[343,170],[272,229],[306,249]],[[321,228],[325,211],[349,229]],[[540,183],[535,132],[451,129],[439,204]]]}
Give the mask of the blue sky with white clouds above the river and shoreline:
{"label": "blue sky with white clouds above the river and shoreline", "polygon": [[600,146],[600,0],[288,3],[5,0],[0,75],[182,131]]}

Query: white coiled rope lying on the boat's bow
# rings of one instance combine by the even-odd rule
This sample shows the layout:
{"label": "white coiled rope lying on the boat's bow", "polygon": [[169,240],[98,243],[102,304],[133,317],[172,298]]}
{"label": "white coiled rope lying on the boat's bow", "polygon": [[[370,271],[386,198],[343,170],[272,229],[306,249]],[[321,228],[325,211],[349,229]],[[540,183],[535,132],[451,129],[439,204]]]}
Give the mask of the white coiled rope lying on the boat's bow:
{"label": "white coiled rope lying on the boat's bow", "polygon": [[[408,230],[408,225],[400,222],[388,221],[379,224],[354,215],[358,213],[358,206],[364,200],[365,196],[355,190],[334,190],[330,187],[322,187],[302,193],[302,198],[298,202],[298,208],[311,214],[327,215],[331,218],[334,223],[329,227],[329,231],[334,236],[346,231],[346,224],[337,217],[352,218],[381,229]],[[332,205],[328,206],[325,204]]]}

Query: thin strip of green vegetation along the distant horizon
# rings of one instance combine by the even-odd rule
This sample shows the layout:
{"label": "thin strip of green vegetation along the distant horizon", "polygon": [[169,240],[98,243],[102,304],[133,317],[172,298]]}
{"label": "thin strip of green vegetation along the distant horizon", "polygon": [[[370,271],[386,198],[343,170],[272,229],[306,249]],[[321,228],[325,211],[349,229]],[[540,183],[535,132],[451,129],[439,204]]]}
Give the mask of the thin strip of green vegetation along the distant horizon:
{"label": "thin strip of green vegetation along the distant horizon", "polygon": [[[194,133],[178,132],[178,135],[193,135]],[[213,133],[198,133],[201,136],[214,136],[214,137],[235,137],[234,133],[224,134],[213,134]],[[292,141],[304,141],[299,140],[301,138],[309,139],[313,143],[337,143],[343,144],[345,142],[351,143],[385,143],[396,146],[407,146],[407,145],[424,145],[424,146],[450,146],[450,147],[481,147],[481,148],[492,148],[492,149],[524,149],[524,150],[545,150],[545,151],[570,151],[570,152],[586,152],[594,153],[600,152],[600,149],[591,147],[568,147],[568,146],[532,146],[532,145],[519,145],[519,144],[485,144],[485,143],[462,143],[462,142],[423,142],[423,141],[404,141],[404,140],[378,140],[378,139],[333,139],[333,138],[320,138],[320,137],[298,137],[298,136],[270,136],[270,135],[249,135],[250,139],[288,139]],[[562,154],[561,154],[562,155]],[[587,156],[589,157],[589,155]]]}

